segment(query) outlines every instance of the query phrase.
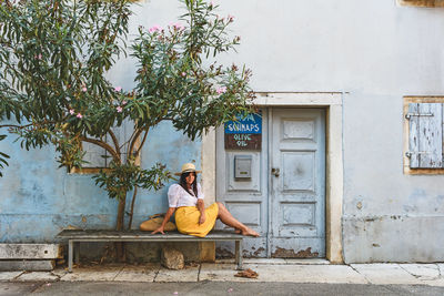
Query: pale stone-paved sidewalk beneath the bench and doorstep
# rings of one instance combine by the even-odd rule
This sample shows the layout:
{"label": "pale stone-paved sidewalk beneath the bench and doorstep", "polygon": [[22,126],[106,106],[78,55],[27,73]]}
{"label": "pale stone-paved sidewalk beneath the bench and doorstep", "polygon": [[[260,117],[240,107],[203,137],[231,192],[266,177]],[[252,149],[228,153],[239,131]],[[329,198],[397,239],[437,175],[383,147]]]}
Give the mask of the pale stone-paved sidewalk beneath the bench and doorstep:
{"label": "pale stone-paved sidewalk beneath the bench and doorstep", "polygon": [[0,282],[246,282],[319,283],[444,286],[444,263],[331,265],[326,261],[245,259],[245,268],[259,273],[256,279],[235,277],[233,263],[192,264],[170,271],[160,264],[95,265],[53,272],[2,272]]}

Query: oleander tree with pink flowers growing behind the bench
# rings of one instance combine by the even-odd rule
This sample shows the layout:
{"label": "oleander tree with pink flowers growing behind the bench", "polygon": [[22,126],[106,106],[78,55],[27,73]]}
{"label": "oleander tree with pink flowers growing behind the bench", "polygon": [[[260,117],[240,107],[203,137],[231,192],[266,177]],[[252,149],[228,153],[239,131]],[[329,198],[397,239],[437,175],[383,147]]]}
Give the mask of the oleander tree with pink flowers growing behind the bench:
{"label": "oleander tree with pink flowers growing behind the bench", "polygon": [[[135,161],[153,126],[170,121],[194,140],[251,111],[251,72],[218,62],[239,44],[228,33],[233,17],[219,17],[213,2],[181,2],[176,21],[139,27],[135,37],[131,1],[0,2],[0,141],[17,136],[26,150],[53,145],[69,170],[85,164],[82,144],[102,147],[110,165],[92,177],[119,200],[117,229],[124,228],[129,192],[159,190],[171,178],[163,164],[143,169]],[[127,57],[135,64],[131,90],[107,76]],[[132,126],[125,140],[114,133],[122,124]],[[0,152],[0,170],[8,157]]]}

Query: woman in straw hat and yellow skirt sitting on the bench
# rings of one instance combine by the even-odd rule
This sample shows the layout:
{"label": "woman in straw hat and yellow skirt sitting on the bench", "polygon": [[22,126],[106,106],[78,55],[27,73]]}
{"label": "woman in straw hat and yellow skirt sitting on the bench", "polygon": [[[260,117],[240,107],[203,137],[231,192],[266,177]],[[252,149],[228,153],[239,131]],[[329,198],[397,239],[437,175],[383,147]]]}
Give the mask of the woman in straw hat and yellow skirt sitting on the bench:
{"label": "woman in straw hat and yellow skirt sitting on the bench", "polygon": [[215,220],[234,227],[236,233],[259,236],[259,233],[235,220],[222,203],[213,203],[205,208],[201,185],[196,182],[195,166],[192,163],[182,165],[179,184],[173,184],[168,190],[169,208],[159,228],[152,232],[164,234],[165,224],[175,212],[178,231],[204,237],[214,226]]}

